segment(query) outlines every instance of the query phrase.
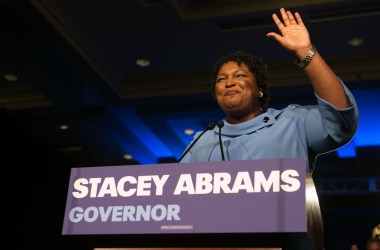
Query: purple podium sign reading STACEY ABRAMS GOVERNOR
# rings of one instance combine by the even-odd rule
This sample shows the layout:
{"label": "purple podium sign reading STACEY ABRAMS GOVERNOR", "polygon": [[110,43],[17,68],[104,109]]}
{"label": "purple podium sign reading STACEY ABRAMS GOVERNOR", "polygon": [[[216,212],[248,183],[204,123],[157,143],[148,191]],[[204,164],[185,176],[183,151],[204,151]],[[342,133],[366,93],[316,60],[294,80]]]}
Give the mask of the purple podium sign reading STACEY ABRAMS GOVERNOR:
{"label": "purple podium sign reading STACEY ABRAMS GOVERNOR", "polygon": [[303,159],[73,168],[62,234],[306,232]]}

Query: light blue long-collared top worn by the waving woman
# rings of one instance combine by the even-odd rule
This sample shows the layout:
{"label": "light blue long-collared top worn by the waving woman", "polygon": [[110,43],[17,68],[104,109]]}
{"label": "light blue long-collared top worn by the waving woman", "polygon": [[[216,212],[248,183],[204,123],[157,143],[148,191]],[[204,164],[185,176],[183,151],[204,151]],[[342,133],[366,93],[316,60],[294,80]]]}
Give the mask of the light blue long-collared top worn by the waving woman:
{"label": "light blue long-collared top worn by the waving woman", "polygon": [[[224,119],[221,138],[225,160],[301,157],[311,167],[317,155],[342,147],[356,133],[358,107],[352,93],[343,86],[351,103],[349,108],[336,109],[316,95],[318,105],[269,108],[241,124],[229,124]],[[195,133],[194,139],[200,133]],[[219,128],[215,127],[200,137],[181,162],[221,160]]]}

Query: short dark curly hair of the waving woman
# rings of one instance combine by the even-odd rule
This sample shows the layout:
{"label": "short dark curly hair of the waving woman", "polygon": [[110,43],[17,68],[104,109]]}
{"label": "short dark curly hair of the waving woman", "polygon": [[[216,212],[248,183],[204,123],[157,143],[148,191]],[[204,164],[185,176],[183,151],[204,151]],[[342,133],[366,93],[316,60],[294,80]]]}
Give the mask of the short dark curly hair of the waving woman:
{"label": "short dark curly hair of the waving woman", "polygon": [[227,62],[236,62],[238,65],[244,63],[248,69],[255,75],[257,85],[259,89],[263,92],[263,97],[259,98],[259,104],[262,109],[266,109],[269,104],[269,75],[268,67],[264,63],[261,57],[252,56],[245,51],[238,50],[228,55],[219,58],[215,63],[211,72],[211,94],[215,97],[215,85],[216,78],[219,73],[220,68],[223,64]]}

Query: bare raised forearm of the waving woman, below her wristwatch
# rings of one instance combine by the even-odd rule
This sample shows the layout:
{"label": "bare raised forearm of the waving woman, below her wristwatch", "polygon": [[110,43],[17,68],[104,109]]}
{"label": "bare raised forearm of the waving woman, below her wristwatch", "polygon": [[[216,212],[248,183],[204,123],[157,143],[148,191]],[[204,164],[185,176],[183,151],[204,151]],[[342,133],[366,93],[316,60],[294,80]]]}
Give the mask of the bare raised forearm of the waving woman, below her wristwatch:
{"label": "bare raised forearm of the waving woman, below her wristwatch", "polygon": [[[307,52],[301,51],[296,56],[302,60]],[[331,103],[337,109],[351,106],[340,80],[318,52],[303,70],[319,97]]]}

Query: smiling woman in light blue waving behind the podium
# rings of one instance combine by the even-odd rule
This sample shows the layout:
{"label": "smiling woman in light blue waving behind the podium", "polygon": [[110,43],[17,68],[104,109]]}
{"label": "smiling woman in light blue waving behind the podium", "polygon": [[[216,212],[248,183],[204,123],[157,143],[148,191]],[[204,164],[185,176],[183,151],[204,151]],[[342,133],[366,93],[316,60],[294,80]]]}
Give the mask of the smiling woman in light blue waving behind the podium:
{"label": "smiling woman in light blue waving behind the podium", "polygon": [[[232,52],[217,60],[211,73],[211,92],[225,117],[196,133],[180,162],[301,157],[312,170],[319,154],[342,147],[355,135],[354,96],[313,45],[299,13],[281,8],[272,18],[279,32],[267,37],[294,55],[294,67],[309,79],[316,104],[269,108],[266,64],[247,52]],[[319,248],[306,234],[286,242],[283,249]]]}

